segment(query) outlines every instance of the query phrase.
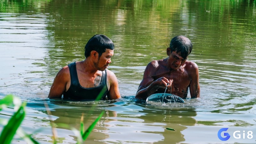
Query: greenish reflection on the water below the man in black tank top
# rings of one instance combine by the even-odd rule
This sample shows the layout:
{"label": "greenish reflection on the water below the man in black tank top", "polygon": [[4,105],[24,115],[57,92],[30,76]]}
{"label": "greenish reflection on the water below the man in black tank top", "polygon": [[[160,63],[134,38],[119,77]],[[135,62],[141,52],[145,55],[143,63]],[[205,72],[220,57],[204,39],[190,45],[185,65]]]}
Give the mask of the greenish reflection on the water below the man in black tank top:
{"label": "greenish reflection on the water below the man in black tank top", "polygon": [[[60,133],[62,133],[60,129],[71,130],[72,127],[79,131],[82,115],[84,116],[84,128],[87,129],[93,123],[93,121],[100,115],[100,112],[102,111],[102,109],[101,110],[99,108],[97,109],[98,110],[92,111],[91,108],[85,108],[85,107],[82,107],[82,108],[64,107],[64,108],[52,109],[51,113],[53,116],[58,117],[54,120],[54,123],[57,124],[57,128],[59,129]],[[103,111],[105,110],[103,109]],[[86,142],[90,142],[93,140],[100,141],[109,137],[107,133],[104,133],[104,131],[107,130],[105,123],[109,122],[109,119],[107,117],[115,116],[115,115],[116,114],[113,111],[105,111],[104,115],[101,117],[100,121],[98,122],[99,124],[97,124],[94,127],[94,129],[96,129],[97,131],[91,132],[90,137]],[[69,127],[65,127],[63,126],[63,124],[68,124]],[[77,140],[77,135],[75,135],[74,132],[71,134],[71,136],[74,138],[75,141]]]}

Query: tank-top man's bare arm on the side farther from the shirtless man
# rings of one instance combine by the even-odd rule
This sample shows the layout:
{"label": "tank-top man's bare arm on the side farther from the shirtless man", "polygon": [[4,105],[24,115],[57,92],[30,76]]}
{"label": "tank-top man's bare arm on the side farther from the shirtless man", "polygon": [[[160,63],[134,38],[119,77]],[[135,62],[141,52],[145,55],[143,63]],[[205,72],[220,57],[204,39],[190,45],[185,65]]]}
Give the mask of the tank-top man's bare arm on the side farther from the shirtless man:
{"label": "tank-top man's bare arm on the side farther from the shirtless man", "polygon": [[[68,71],[68,73],[67,73]],[[48,98],[60,98],[66,90],[67,78],[70,77],[69,69],[61,68],[52,83]]]}

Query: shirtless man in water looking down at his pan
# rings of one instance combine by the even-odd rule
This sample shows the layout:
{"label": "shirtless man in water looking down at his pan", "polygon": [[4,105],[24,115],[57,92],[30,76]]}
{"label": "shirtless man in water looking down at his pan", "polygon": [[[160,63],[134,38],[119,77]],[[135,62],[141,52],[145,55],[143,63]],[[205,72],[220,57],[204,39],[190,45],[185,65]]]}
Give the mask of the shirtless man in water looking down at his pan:
{"label": "shirtless man in water looking down at his pan", "polygon": [[151,94],[171,93],[186,98],[188,88],[191,98],[200,97],[199,74],[196,63],[187,61],[192,51],[192,43],[185,36],[175,36],[166,52],[168,57],[151,61],[135,95],[137,99],[146,99]]}

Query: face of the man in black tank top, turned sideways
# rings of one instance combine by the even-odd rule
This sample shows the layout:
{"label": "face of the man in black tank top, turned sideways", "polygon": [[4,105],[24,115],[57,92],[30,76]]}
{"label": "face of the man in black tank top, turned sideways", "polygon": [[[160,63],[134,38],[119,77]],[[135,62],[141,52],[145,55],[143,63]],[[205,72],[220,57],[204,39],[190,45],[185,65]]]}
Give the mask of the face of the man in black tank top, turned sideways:
{"label": "face of the man in black tank top, turned sideways", "polygon": [[102,53],[98,61],[94,64],[95,67],[100,71],[104,71],[111,63],[111,57],[113,55],[114,50],[106,49],[106,52]]}

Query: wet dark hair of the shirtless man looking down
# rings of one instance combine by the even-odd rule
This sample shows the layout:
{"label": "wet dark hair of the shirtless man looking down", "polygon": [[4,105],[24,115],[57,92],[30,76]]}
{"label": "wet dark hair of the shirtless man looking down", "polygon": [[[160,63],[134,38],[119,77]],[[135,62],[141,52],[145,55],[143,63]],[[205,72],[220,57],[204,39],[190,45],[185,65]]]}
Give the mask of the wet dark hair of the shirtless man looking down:
{"label": "wet dark hair of the shirtless man looking down", "polygon": [[180,54],[183,59],[187,59],[191,53],[193,45],[191,41],[185,36],[175,36],[170,42],[171,53],[176,52]]}

